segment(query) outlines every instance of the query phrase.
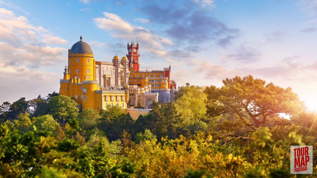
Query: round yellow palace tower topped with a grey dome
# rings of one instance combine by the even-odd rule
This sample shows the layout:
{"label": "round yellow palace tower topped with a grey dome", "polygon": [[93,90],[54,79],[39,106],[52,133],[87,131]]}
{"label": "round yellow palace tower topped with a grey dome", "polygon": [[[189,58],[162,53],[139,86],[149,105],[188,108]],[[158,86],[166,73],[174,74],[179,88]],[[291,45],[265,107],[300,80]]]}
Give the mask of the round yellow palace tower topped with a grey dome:
{"label": "round yellow palace tower topped with a grey dome", "polygon": [[68,74],[70,78],[76,77],[81,80],[95,80],[95,60],[90,46],[82,41],[75,43],[68,50]]}

